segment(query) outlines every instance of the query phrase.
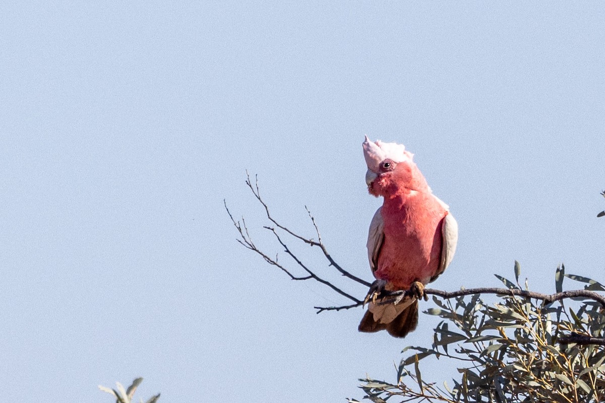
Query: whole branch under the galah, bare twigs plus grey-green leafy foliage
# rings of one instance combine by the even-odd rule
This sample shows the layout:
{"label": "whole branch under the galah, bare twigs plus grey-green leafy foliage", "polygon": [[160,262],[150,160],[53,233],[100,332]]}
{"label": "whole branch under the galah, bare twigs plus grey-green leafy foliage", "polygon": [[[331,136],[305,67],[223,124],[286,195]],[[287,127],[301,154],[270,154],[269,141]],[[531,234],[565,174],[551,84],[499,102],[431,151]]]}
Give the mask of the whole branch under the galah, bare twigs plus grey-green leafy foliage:
{"label": "whole branch under the galah, bare twigs plus grey-green leafy foliage", "polygon": [[[315,268],[302,262],[288,247],[291,239],[318,247],[333,267],[353,283],[369,286],[370,282],[353,276],[339,266],[325,248],[315,219],[307,209],[318,240],[304,237],[280,224],[270,214],[269,207],[261,198],[258,180],[253,185],[247,176],[246,185],[263,205],[270,225],[269,230],[295,263],[302,275],[295,274],[290,265],[265,253],[250,238],[244,219],[235,221],[225,208],[240,237],[238,242],[263,257],[293,280],[315,280],[348,298],[350,305],[318,307],[323,311],[340,311],[362,305],[356,298],[342,291],[341,286],[318,276]],[[603,192],[605,196],[605,192]],[[605,215],[605,211],[599,216]],[[290,239],[288,239],[290,237]],[[605,286],[587,277],[565,274],[561,265],[555,272],[555,293],[542,294],[529,290],[519,283],[520,265],[515,262],[515,282],[496,276],[506,288],[473,288],[457,291],[425,289],[433,295],[437,308],[425,311],[437,315],[442,321],[434,329],[431,347],[409,346],[402,352],[412,355],[401,359],[394,382],[376,379],[360,379],[364,399],[385,402],[390,398],[400,402],[603,402],[605,401],[605,297],[600,292]],[[565,278],[584,283],[584,289],[563,291]],[[351,282],[349,282],[350,284]],[[495,294],[501,300],[494,305],[486,304],[482,294]],[[393,291],[382,295],[381,303],[396,303],[410,291]],[[569,307],[564,305],[569,302]],[[538,303],[538,301],[540,301]],[[443,388],[435,382],[427,382],[420,371],[421,360],[433,356],[459,363],[460,377],[452,379],[453,386],[443,382]],[[350,403],[358,402],[348,399]]]}

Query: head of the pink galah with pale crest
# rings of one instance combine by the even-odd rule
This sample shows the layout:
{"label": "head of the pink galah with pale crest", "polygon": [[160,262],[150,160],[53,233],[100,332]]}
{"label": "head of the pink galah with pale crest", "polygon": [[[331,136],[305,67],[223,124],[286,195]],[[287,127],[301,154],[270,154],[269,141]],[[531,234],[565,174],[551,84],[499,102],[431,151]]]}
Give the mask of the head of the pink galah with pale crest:
{"label": "head of the pink galah with pale crest", "polygon": [[368,170],[365,183],[374,196],[387,196],[398,190],[425,190],[427,182],[413,163],[413,153],[403,144],[374,142],[365,136],[364,157]]}

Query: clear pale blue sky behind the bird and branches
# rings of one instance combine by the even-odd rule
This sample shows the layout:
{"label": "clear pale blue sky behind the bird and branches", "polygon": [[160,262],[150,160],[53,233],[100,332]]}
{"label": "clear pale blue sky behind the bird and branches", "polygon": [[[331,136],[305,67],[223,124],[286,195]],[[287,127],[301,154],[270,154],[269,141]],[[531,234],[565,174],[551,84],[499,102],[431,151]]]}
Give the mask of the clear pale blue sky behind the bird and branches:
{"label": "clear pale blue sky behind the bird and branches", "polygon": [[276,218],[312,236],[307,205],[371,280],[365,134],[415,153],[459,222],[434,287],[514,259],[540,291],[561,262],[603,280],[603,27],[599,2],[5,2],[2,401],[110,402],[97,384],[143,376],[166,402],[343,402],[394,380],[434,318],[396,340],[316,315],[347,301],[244,250],[223,208],[280,251],[258,173]]}

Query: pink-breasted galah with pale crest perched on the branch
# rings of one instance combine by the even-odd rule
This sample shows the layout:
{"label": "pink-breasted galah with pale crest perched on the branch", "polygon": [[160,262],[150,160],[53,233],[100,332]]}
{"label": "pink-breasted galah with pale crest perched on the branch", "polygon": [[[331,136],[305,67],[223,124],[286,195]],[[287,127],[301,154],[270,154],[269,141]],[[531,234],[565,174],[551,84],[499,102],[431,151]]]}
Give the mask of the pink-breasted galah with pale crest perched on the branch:
{"label": "pink-breasted galah with pale crest perched on the branch", "polygon": [[[450,264],[456,251],[458,224],[450,208],[433,195],[413,154],[396,143],[363,143],[368,166],[368,192],[383,196],[368,233],[368,259],[376,281],[366,301],[368,311],[360,332],[387,330],[405,337],[416,329],[418,299],[427,298],[424,286]],[[381,304],[382,291],[410,289],[413,296]]]}

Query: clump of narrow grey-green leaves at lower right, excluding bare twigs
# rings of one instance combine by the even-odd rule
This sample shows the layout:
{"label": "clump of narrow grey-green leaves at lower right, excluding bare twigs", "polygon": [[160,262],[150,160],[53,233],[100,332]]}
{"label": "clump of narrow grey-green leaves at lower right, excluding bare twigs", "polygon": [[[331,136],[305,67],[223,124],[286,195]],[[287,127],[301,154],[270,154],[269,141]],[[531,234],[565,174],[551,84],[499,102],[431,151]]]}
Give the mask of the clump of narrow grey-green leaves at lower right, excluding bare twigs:
{"label": "clump of narrow grey-green leaves at lower right, excluding bare twigs", "polygon": [[[515,282],[498,277],[508,289]],[[589,291],[605,291],[601,283],[555,272],[555,288],[567,277]],[[524,285],[528,289],[527,280]],[[396,382],[361,379],[364,399],[373,402],[604,402],[604,307],[598,301],[574,298],[552,303],[499,295],[486,303],[480,294],[442,300],[426,314],[443,320],[434,329],[430,347],[406,347]],[[588,340],[588,341],[586,341]],[[590,343],[590,344],[588,344]],[[459,375],[437,384],[422,375],[428,356],[457,363]],[[349,402],[357,402],[349,399]]]}

